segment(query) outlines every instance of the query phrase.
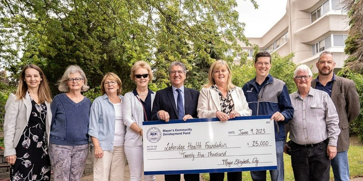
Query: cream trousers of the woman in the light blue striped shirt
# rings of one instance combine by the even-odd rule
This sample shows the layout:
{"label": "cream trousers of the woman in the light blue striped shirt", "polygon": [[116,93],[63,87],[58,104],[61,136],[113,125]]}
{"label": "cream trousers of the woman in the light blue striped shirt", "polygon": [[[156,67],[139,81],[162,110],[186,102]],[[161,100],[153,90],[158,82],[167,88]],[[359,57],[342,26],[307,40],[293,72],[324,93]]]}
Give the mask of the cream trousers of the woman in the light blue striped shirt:
{"label": "cream trousers of the woman in the light blue striped shirt", "polygon": [[102,158],[94,157],[94,147],[91,147],[93,158],[94,181],[120,181],[125,173],[125,150],[123,146],[114,146],[113,151],[103,151]]}

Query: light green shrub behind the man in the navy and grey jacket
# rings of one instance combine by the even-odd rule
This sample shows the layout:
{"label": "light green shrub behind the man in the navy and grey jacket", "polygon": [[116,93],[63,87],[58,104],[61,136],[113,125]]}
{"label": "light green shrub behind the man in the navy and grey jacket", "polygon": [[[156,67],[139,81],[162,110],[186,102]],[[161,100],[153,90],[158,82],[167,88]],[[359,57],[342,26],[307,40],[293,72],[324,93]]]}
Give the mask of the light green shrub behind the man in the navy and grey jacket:
{"label": "light green shrub behind the man in the navy and grey jacket", "polygon": [[[289,93],[293,93],[297,90],[294,83],[294,71],[297,65],[292,61],[293,53],[287,56],[280,56],[277,53],[273,53],[271,60],[270,74],[285,82]],[[253,66],[254,60],[248,61],[241,66],[232,65],[232,82],[238,87],[242,87],[246,82],[256,77],[256,70]]]}

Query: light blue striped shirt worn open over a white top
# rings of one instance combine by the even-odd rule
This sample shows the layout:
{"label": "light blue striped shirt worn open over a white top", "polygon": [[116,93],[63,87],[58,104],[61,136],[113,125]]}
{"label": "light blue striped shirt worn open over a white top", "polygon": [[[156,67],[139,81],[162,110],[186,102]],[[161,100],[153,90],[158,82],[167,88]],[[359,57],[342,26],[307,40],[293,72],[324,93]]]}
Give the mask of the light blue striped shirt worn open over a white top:
{"label": "light blue striped shirt worn open over a white top", "polygon": [[[123,100],[123,96],[119,96]],[[112,151],[115,133],[115,110],[106,94],[97,97],[91,106],[88,134],[97,138],[102,150]],[[125,127],[126,129],[126,127]],[[92,146],[93,143],[91,143]]]}

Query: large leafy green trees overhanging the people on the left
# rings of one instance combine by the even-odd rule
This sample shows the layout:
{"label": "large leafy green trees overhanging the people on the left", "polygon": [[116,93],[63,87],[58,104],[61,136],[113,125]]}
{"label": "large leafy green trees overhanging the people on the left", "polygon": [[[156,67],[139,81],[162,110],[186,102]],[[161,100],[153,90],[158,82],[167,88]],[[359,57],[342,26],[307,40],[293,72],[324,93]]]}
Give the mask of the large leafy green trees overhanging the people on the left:
{"label": "large leafy green trees overhanging the people on the left", "polygon": [[152,64],[152,88],[168,85],[167,67],[175,60],[188,68],[186,84],[200,88],[214,58],[225,58],[228,49],[241,51],[236,38],[248,45],[244,24],[233,10],[236,0],[0,2],[1,62],[13,75],[24,64],[37,64],[53,94],[72,64],[82,67],[91,88],[106,72],[114,72],[128,92],[135,87],[130,68],[138,60]]}

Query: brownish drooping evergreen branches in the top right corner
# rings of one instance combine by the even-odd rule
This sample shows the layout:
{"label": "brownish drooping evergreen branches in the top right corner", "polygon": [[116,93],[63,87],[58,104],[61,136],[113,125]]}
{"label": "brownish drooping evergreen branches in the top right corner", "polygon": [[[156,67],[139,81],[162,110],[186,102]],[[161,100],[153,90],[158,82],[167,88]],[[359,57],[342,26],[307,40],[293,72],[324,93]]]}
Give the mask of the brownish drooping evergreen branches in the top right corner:
{"label": "brownish drooping evergreen branches in the top right corner", "polygon": [[344,71],[349,69],[363,74],[363,0],[345,0],[344,9],[348,12],[349,33],[345,41],[344,52],[349,55],[344,62]]}

